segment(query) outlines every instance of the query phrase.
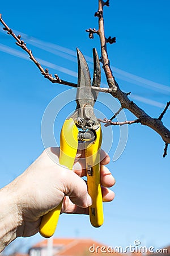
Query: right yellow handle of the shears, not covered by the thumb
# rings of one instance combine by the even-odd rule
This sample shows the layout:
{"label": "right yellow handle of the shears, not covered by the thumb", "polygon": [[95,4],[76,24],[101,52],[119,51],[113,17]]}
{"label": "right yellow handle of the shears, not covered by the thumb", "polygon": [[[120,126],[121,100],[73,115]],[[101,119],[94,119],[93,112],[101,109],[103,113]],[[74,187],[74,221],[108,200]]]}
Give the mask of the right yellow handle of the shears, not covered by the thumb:
{"label": "right yellow handle of the shears, not covered by the thumb", "polygon": [[104,222],[103,198],[100,184],[100,148],[102,141],[101,126],[96,130],[96,140],[88,144],[85,150],[87,187],[92,198],[92,205],[89,207],[90,222],[92,226],[98,228]]}

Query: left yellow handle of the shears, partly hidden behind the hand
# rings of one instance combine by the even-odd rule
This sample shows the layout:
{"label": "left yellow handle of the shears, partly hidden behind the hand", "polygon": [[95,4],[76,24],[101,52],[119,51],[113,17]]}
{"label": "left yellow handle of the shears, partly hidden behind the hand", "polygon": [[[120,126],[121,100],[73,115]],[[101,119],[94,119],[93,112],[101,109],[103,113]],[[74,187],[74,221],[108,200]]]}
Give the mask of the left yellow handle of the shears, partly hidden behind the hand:
{"label": "left yellow handle of the shears, partly hidden behind the hand", "polygon": [[[63,123],[60,135],[60,154],[59,163],[70,170],[73,168],[76,151],[78,148],[78,129],[72,118],[66,119]],[[53,210],[46,213],[41,220],[40,234],[42,237],[49,238],[53,236],[59,214],[61,212],[62,202]]]}

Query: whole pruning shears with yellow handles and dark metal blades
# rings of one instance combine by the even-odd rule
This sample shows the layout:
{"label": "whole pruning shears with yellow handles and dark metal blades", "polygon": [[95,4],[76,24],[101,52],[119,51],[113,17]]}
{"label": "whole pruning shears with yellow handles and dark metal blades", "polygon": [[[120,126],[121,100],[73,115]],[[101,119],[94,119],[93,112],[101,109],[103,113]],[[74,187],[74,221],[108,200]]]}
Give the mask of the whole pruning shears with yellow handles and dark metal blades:
{"label": "whole pruning shears with yellow handles and dark metal blades", "polygon": [[[92,86],[100,87],[101,71],[97,51],[93,49],[94,77]],[[60,135],[59,163],[70,170],[73,168],[78,144],[83,143],[86,157],[87,187],[92,197],[92,205],[89,207],[90,222],[96,228],[101,226],[103,217],[103,198],[100,184],[100,148],[102,131],[100,122],[94,113],[94,104],[98,96],[96,90],[92,90],[90,71],[87,62],[79,49],[78,56],[78,86],[76,90],[76,109],[65,120]],[[42,217],[40,234],[43,237],[53,236],[62,202],[53,210]]]}

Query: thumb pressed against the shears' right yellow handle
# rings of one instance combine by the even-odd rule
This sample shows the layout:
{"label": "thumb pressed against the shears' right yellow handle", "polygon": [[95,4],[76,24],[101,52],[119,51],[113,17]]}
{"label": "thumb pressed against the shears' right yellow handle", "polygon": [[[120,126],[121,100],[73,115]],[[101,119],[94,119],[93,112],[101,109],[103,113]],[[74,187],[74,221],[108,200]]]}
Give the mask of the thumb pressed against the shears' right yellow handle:
{"label": "thumb pressed against the shears' right yellow handle", "polygon": [[86,182],[73,171],[67,170],[65,179],[65,195],[79,207],[87,208],[92,205],[92,199],[87,192]]}

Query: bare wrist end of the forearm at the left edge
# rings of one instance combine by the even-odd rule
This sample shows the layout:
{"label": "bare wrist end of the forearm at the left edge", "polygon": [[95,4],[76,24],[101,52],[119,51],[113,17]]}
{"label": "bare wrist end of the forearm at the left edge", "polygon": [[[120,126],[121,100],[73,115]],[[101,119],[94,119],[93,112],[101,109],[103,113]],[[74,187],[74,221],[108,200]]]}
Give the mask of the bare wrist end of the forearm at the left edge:
{"label": "bare wrist end of the forearm at the left edge", "polygon": [[[13,181],[14,182],[14,181]],[[15,240],[18,232],[18,204],[12,183],[0,189],[0,252]]]}

